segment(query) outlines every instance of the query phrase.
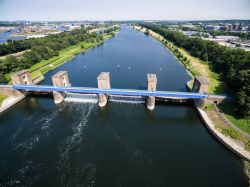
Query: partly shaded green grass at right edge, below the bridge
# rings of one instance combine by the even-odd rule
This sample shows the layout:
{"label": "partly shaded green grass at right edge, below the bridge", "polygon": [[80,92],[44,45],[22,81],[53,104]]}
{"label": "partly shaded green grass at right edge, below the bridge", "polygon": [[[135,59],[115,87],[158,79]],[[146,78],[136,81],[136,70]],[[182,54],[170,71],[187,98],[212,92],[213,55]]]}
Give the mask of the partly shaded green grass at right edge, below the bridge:
{"label": "partly shaded green grass at right edge, below the bridge", "polygon": [[223,103],[219,105],[220,110],[223,111],[224,115],[228,120],[230,120],[234,125],[236,125],[241,130],[250,134],[250,118],[243,118],[237,115],[235,106],[232,103]]}

